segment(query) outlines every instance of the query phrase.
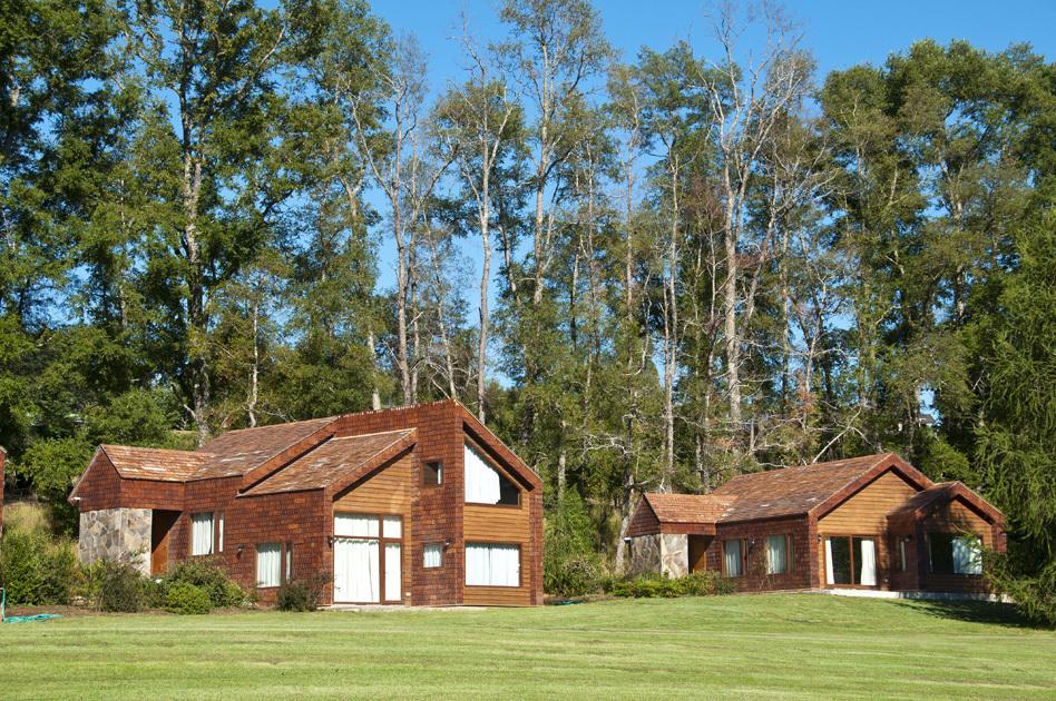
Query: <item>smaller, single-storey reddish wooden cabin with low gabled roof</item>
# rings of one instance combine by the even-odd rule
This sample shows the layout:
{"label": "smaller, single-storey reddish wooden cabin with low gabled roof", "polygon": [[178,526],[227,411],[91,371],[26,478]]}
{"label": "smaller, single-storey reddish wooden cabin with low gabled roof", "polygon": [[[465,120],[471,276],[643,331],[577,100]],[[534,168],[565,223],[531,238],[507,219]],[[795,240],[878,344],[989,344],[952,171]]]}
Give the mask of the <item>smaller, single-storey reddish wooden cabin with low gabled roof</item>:
{"label": "smaller, single-storey reddish wooden cabin with low gabled roof", "polygon": [[645,494],[624,535],[632,572],[711,570],[740,591],[984,593],[981,549],[1005,551],[997,509],[893,453]]}

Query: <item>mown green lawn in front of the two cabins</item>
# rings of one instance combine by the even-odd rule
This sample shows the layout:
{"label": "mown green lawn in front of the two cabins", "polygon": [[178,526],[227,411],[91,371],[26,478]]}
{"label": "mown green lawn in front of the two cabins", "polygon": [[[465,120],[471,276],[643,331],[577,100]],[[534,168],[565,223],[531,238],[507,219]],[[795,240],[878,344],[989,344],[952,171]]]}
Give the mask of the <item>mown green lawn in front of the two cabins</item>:
{"label": "mown green lawn in front of the two cabins", "polygon": [[997,604],[805,594],[0,626],[4,699],[303,695],[1056,699],[1056,633]]}

